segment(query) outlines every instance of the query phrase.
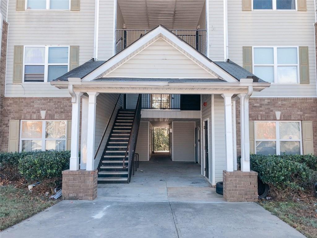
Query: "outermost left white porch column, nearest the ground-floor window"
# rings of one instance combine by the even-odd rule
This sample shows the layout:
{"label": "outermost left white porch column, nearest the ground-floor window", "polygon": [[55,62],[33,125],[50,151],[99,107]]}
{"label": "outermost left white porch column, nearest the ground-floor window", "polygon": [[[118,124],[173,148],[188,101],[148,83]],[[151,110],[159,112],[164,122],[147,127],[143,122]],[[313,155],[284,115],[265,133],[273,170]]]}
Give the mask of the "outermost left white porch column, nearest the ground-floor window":
{"label": "outermost left white porch column, nearest the ground-floor window", "polygon": [[80,97],[82,93],[75,93],[75,102],[72,102],[72,135],[70,142],[69,170],[79,169],[79,114]]}

